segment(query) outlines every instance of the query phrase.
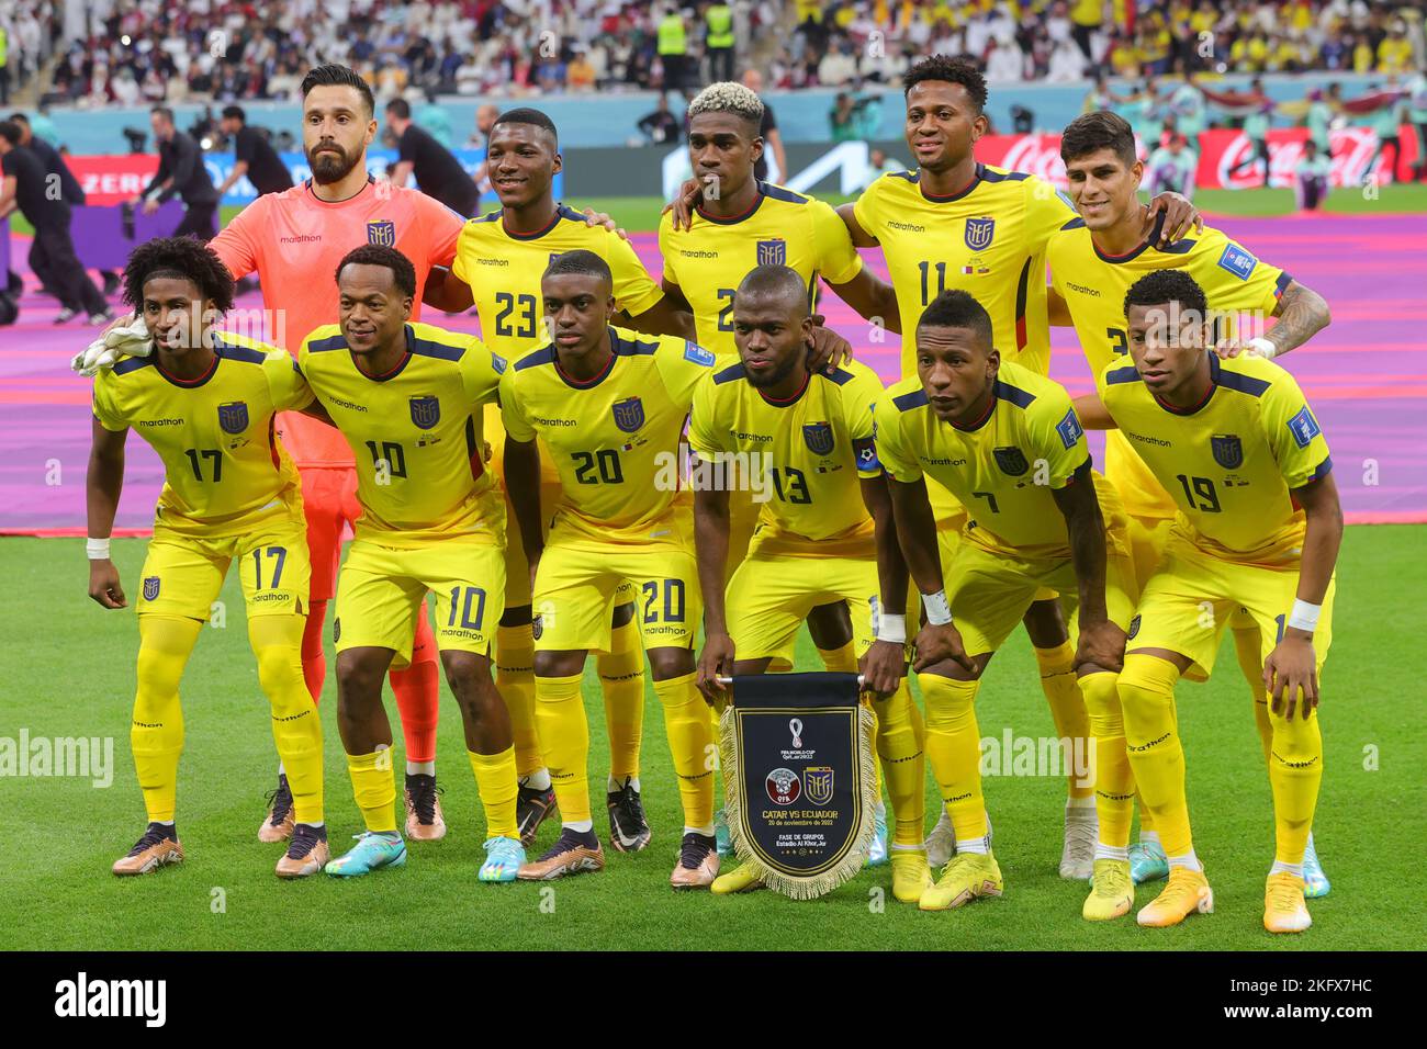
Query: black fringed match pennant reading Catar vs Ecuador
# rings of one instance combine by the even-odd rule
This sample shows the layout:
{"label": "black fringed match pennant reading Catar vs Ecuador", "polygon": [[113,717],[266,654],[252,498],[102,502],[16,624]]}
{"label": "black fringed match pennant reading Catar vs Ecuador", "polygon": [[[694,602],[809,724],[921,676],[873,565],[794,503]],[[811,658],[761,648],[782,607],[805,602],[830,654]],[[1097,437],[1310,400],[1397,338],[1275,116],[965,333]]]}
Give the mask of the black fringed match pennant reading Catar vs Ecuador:
{"label": "black fringed match pennant reading Catar vs Ecuador", "polygon": [[723,789],[738,858],[771,889],[823,896],[872,845],[872,712],[852,674],[733,678],[722,715]]}

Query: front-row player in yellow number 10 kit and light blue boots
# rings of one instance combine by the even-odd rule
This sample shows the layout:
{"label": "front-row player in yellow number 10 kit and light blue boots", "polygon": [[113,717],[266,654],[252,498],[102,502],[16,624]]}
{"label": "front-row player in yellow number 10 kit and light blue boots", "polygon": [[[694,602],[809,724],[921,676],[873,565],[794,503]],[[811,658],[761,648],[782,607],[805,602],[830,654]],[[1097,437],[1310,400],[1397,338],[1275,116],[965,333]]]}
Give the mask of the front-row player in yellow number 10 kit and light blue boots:
{"label": "front-row player in yellow number 10 kit and light blue boots", "polygon": [[400,866],[391,725],[381,684],[411,659],[434,595],[437,647],[465,725],[487,818],[485,882],[525,862],[515,828],[511,721],[491,679],[505,599],[505,514],[478,441],[505,361],[481,340],[411,321],[417,274],[392,247],[364,244],[335,271],[338,324],[303,340],[298,368],[357,461],[361,517],[337,589],[337,718],[367,831],[327,873]]}

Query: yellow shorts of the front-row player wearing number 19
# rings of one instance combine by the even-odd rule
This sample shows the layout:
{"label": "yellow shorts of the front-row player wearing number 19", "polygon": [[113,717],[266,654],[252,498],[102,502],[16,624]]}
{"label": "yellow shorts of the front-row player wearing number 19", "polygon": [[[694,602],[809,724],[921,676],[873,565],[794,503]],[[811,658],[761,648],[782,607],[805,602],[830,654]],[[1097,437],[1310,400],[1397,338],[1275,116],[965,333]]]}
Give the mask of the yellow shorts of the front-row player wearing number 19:
{"label": "yellow shorts of the front-row player wearing number 19", "polygon": [[[1336,589],[1334,578],[1329,581],[1319,627],[1313,632],[1313,652],[1320,669],[1333,644]],[[1297,591],[1297,565],[1266,568],[1233,564],[1203,552],[1179,532],[1172,532],[1160,568],[1144,587],[1130,621],[1126,651],[1164,648],[1179,652],[1194,661],[1184,676],[1204,681],[1214,669],[1224,627],[1237,627],[1241,619],[1259,628],[1259,651],[1266,659],[1283,637]]]}

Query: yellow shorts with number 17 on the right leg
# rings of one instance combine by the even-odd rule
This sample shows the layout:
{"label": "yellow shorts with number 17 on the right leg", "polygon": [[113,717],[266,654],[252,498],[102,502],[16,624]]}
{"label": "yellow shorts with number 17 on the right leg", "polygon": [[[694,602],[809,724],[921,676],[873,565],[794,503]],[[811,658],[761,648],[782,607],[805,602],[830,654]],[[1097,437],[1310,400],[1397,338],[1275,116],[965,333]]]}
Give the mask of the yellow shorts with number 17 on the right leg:
{"label": "yellow shorts with number 17 on the right leg", "polygon": [[180,615],[207,622],[234,558],[250,617],[307,615],[313,581],[307,522],[287,517],[275,517],[243,535],[214,539],[156,527],[144,557],[138,615]]}

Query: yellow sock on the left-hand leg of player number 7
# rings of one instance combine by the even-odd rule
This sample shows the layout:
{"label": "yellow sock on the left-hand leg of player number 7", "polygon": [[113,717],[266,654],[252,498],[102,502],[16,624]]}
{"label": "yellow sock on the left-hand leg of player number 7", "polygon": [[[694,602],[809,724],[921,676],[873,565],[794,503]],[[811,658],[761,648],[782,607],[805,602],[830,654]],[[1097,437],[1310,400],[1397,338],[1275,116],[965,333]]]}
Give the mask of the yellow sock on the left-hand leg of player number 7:
{"label": "yellow sock on the left-hand leg of player number 7", "polygon": [[952,818],[956,841],[986,836],[986,801],[980,785],[980,729],[976,725],[979,681],[919,674],[926,701],[926,756]]}

